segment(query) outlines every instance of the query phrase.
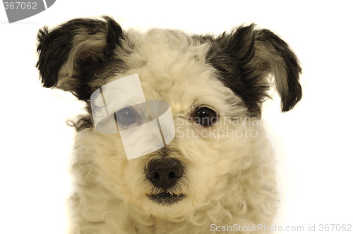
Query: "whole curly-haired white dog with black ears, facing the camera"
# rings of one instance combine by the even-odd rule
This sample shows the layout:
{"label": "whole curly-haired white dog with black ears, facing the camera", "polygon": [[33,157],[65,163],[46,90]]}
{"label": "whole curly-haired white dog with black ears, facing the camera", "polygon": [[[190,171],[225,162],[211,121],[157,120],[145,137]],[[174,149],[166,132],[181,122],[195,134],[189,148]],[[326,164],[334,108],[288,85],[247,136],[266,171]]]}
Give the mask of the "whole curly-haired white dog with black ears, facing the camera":
{"label": "whole curly-haired white dog with black ears, facing the camera", "polygon": [[[254,24],[221,35],[138,32],[102,16],[43,27],[37,39],[42,85],[87,104],[71,122],[77,134],[69,233],[269,232],[251,229],[273,224],[280,202],[261,106],[270,87],[282,112],[302,95],[298,58],[280,37]],[[155,127],[148,128],[126,146],[123,132],[153,119],[140,121],[140,102],[130,97],[136,92],[114,83],[124,78],[135,79],[146,100],[164,101],[169,132],[156,134],[172,135],[132,159],[128,150],[143,152],[157,138],[145,136]],[[110,103],[123,106],[107,113],[116,130],[98,129],[98,112]]]}

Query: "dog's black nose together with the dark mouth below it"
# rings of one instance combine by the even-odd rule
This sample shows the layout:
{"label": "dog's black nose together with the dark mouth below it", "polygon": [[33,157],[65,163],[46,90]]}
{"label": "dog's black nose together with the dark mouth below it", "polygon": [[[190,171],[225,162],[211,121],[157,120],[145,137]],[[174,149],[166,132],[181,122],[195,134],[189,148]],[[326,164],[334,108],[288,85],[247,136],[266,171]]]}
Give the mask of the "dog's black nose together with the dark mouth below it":
{"label": "dog's black nose together with the dark mouth below it", "polygon": [[[162,158],[150,161],[146,168],[146,177],[152,185],[167,191],[173,187],[183,175],[183,166],[177,159]],[[157,195],[148,195],[148,198],[158,204],[173,204],[184,199],[185,195],[174,195],[169,192],[160,192]]]}

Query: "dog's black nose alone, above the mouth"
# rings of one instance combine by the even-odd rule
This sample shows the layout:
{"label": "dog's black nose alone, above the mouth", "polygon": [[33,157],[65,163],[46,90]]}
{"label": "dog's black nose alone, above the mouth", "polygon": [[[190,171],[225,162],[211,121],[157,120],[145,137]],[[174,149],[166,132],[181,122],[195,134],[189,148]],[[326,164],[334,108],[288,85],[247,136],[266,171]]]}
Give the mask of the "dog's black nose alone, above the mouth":
{"label": "dog's black nose alone, above the mouth", "polygon": [[147,178],[156,187],[167,189],[177,183],[183,173],[183,166],[177,159],[154,159],[147,165]]}

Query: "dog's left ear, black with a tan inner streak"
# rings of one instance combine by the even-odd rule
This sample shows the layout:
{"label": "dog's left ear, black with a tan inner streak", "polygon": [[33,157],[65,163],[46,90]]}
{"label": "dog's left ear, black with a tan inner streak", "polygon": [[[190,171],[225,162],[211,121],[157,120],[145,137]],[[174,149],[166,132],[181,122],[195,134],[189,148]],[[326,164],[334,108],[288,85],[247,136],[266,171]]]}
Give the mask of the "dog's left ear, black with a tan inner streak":
{"label": "dog's left ear, black with a tan inner streak", "polygon": [[53,30],[39,30],[37,52],[44,87],[58,87],[78,99],[90,99],[89,83],[121,44],[123,30],[109,17],[78,18]]}

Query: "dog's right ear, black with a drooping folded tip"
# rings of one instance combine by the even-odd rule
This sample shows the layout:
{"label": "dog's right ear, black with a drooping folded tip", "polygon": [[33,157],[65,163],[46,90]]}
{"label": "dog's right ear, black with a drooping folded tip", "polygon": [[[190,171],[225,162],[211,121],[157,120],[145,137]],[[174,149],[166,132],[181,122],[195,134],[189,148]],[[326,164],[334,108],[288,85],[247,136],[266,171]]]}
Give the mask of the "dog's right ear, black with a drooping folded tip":
{"label": "dog's right ear, black with a drooping folded tip", "polygon": [[273,85],[280,94],[282,111],[289,111],[301,99],[297,56],[273,32],[254,27],[239,27],[216,38],[209,51],[210,63],[233,92],[244,99],[251,116],[261,116],[270,75],[275,77]]}

